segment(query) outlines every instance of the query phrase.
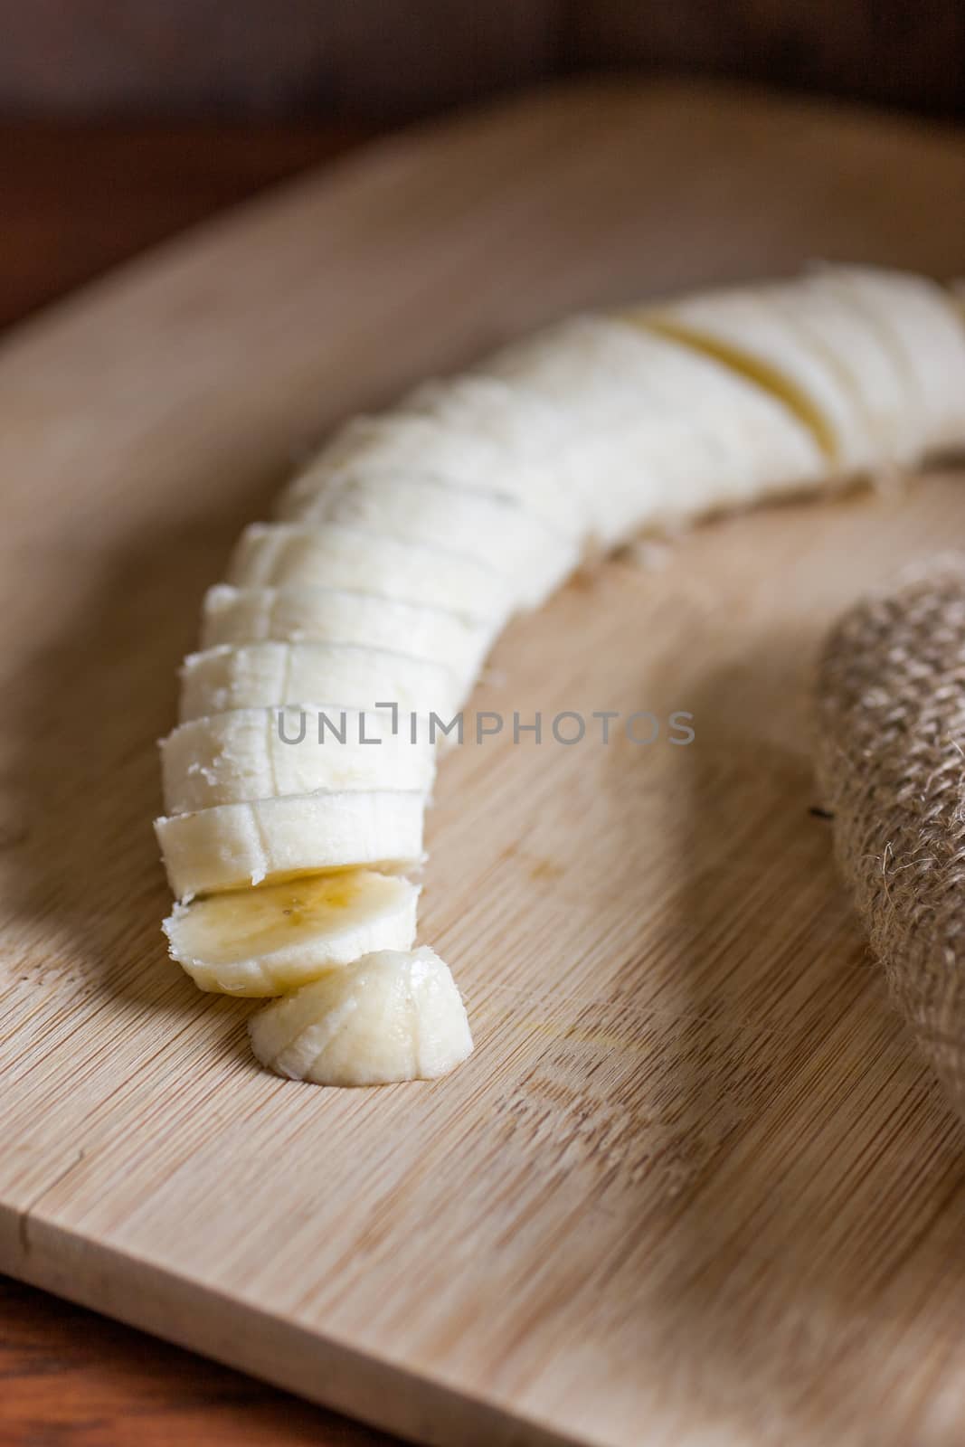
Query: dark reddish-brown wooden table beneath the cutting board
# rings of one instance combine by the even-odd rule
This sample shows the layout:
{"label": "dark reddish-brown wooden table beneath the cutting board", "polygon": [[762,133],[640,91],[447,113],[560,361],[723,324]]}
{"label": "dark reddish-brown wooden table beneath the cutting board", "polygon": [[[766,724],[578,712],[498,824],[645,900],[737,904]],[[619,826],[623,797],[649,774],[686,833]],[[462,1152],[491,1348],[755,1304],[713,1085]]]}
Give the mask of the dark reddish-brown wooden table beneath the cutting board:
{"label": "dark reddish-brown wooden table beneath the cutting board", "polygon": [[[0,327],[360,127],[0,126]],[[0,1278],[0,1444],[389,1447],[392,1438]]]}

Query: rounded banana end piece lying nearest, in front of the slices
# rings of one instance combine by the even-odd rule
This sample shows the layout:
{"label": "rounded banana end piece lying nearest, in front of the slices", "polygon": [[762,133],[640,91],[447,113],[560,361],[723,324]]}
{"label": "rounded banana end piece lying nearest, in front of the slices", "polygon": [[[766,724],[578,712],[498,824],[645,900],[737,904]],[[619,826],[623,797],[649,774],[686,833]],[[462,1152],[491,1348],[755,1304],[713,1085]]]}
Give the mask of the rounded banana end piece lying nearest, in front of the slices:
{"label": "rounded banana end piece lying nearest, in front of the slices", "polygon": [[334,969],[260,1010],[249,1035],[262,1065],[317,1085],[435,1079],[473,1049],[449,967],[425,948]]}

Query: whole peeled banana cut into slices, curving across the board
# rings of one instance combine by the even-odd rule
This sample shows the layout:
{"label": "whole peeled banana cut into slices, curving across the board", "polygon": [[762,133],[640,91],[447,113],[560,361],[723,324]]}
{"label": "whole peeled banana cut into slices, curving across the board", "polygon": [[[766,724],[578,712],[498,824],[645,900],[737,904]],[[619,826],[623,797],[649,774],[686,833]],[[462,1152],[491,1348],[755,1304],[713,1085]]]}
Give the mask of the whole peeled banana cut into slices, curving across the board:
{"label": "whole peeled banana cut into slices, curving across the board", "polygon": [[[431,731],[589,548],[965,446],[965,308],[822,266],[583,315],[341,427],[204,602],[162,741],[171,954],[282,1075],[433,1078],[472,1051],[412,951]],[[324,719],[324,722],[323,722]]]}

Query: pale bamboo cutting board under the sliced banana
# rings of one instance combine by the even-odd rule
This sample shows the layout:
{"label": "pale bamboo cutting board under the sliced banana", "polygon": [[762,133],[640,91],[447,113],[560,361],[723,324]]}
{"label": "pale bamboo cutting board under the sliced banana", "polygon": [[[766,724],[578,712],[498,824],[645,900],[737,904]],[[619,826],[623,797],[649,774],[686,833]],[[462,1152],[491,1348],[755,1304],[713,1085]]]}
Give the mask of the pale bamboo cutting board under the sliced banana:
{"label": "pale bamboo cutting board under the sliced banana", "polygon": [[710,524],[515,622],[473,706],[694,715],[441,768],[451,1078],[330,1092],[165,958],[153,741],[203,589],[347,412],[589,304],[965,273],[965,143],[590,85],[383,143],[0,355],[0,1268],[415,1440],[965,1437],[965,1152],[830,864],[807,673],[962,478]]}

